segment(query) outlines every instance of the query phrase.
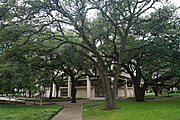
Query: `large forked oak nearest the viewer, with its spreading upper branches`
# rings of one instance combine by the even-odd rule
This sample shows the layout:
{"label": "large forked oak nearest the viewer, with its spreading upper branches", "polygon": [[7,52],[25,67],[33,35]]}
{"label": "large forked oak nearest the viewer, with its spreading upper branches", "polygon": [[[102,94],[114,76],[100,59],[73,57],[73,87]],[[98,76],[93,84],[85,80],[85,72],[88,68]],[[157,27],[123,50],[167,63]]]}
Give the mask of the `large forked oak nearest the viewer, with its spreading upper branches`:
{"label": "large forked oak nearest the viewer, with its spreading upper branches", "polygon": [[[84,55],[91,60],[102,80],[105,108],[114,109],[117,81],[132,27],[142,14],[154,8],[156,2],[157,0],[26,0],[5,4],[11,6],[10,11],[17,24],[33,24],[38,31],[45,27],[51,30],[50,36],[59,40],[56,48],[72,43],[87,50]],[[100,18],[96,24],[99,28],[93,26],[93,19],[88,19],[92,10],[95,10]],[[67,30],[73,31],[81,41],[70,41],[65,34]],[[55,35],[53,31],[58,31],[59,34]],[[104,50],[106,47],[110,52]],[[107,64],[108,59],[112,62]],[[110,64],[114,66],[112,83],[108,77]]]}

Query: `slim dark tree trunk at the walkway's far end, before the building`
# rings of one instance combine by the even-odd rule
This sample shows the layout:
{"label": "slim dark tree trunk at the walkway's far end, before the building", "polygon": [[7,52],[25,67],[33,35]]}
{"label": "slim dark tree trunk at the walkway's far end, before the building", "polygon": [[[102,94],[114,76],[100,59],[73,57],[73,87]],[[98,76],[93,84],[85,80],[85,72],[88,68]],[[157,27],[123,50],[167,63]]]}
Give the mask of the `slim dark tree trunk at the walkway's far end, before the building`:
{"label": "slim dark tree trunk at the walkway's far end, before the building", "polygon": [[76,103],[76,79],[74,77],[71,77],[71,103]]}

